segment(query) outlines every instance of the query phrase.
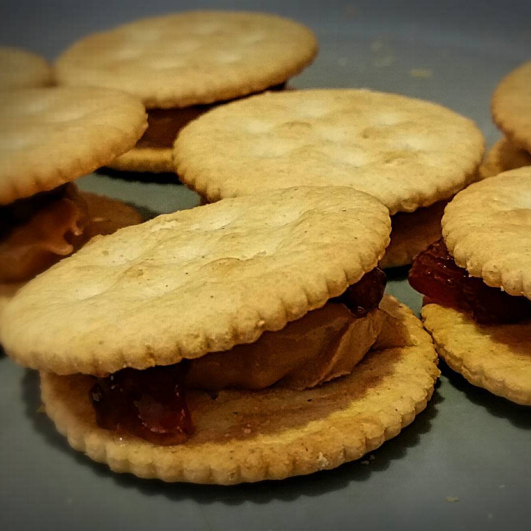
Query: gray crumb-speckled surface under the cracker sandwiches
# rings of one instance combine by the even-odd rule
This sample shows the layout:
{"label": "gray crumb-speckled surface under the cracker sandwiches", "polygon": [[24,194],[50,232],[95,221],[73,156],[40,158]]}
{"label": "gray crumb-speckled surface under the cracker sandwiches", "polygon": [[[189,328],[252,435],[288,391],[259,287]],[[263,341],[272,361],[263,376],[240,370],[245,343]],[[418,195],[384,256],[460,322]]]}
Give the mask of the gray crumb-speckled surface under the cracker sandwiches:
{"label": "gray crumb-speckled surface under the cracker sandwiches", "polygon": [[[488,143],[499,136],[489,114],[492,90],[531,57],[529,2],[20,1],[0,7],[0,39],[51,59],[85,33],[195,6],[305,22],[321,52],[295,87],[371,87],[432,99],[475,119]],[[198,203],[173,178],[151,177],[101,173],[79,183],[146,215]],[[390,274],[389,292],[418,311],[406,271]],[[216,487],[144,481],[92,463],[37,412],[37,375],[0,355],[0,528],[529,528],[531,409],[442,371],[427,409],[369,464]]]}

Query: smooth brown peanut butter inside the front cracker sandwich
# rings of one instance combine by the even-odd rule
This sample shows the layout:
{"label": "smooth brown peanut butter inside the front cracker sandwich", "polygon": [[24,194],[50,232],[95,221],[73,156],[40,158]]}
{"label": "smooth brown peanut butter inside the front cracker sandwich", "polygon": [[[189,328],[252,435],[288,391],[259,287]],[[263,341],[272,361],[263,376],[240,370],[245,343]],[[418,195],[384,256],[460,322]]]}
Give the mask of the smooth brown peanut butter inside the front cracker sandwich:
{"label": "smooth brown peanut butter inside the front cracker sandwich", "polygon": [[407,332],[393,321],[378,309],[355,318],[344,304],[329,302],[278,332],[264,332],[250,345],[191,360],[185,385],[209,391],[273,385],[309,389],[352,372],[385,327],[398,333],[386,334],[379,348],[404,346]]}

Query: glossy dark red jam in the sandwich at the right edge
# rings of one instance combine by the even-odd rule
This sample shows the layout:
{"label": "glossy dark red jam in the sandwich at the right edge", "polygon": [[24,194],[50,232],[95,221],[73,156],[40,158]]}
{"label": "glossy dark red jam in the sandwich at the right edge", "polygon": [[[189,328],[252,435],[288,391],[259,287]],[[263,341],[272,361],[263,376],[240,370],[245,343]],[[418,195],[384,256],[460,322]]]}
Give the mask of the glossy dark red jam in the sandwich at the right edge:
{"label": "glossy dark red jam in the sandwich at the right edge", "polygon": [[529,299],[470,277],[453,260],[442,238],[413,260],[409,284],[432,302],[471,312],[478,323],[513,323],[531,317]]}

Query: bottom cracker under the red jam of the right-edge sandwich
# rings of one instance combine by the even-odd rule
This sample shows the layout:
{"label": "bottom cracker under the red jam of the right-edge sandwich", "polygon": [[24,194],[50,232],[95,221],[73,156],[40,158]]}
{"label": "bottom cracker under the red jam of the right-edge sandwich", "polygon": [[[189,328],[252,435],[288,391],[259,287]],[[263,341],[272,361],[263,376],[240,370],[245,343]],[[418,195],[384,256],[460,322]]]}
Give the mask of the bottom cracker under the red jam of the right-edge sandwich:
{"label": "bottom cracker under the red jam of the right-edge sandwich", "polygon": [[531,406],[531,321],[478,324],[464,312],[427,304],[424,326],[444,361],[470,383]]}

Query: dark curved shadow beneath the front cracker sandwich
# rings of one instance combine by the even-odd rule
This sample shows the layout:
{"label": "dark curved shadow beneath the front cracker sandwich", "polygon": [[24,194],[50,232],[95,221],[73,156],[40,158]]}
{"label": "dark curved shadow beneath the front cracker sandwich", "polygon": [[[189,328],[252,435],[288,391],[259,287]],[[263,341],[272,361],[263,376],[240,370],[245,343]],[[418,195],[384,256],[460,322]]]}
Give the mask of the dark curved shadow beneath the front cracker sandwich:
{"label": "dark curved shadow beneath the front cracker sandwich", "polygon": [[281,481],[268,480],[233,486],[196,485],[165,483],[159,479],[141,479],[132,474],[118,474],[112,472],[106,465],[88,459],[81,452],[70,448],[66,438],[55,430],[53,422],[46,414],[38,412],[41,399],[37,371],[26,370],[21,383],[25,415],[32,422],[35,431],[50,446],[67,452],[75,461],[75,466],[90,467],[97,476],[112,478],[118,487],[136,489],[144,495],[163,495],[174,502],[193,500],[201,504],[224,503],[227,506],[238,506],[245,502],[264,504],[273,500],[292,501],[300,496],[319,496],[345,489],[352,483],[367,481],[371,475],[389,468],[393,461],[405,458],[407,451],[421,442],[422,435],[430,430],[432,421],[437,415],[438,405],[443,401],[437,390],[439,384],[436,384],[432,399],[412,424],[369,455],[338,468]]}

